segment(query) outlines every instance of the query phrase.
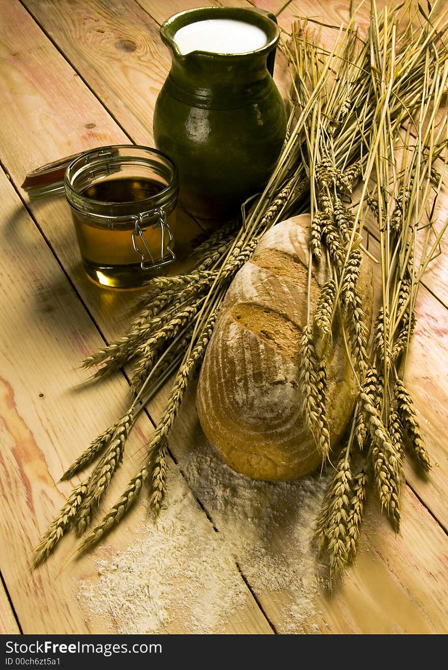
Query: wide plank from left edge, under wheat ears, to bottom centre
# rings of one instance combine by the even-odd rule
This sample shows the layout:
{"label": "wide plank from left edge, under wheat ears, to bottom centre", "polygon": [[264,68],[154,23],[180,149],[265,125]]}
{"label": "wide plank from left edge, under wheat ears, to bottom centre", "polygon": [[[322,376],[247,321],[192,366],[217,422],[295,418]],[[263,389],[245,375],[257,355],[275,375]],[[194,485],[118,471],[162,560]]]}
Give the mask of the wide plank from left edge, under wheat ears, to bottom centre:
{"label": "wide plank from left edge, under wheat ears, to bottom centre", "polygon": [[[121,553],[126,555],[129,547],[141,541],[145,527],[151,523],[147,519],[146,505],[135,506],[108,541],[85,555],[82,561],[70,560],[75,547],[72,537],[61,543],[56,555],[44,566],[34,572],[30,569],[33,546],[60,509],[63,493],[73,485],[56,484],[64,464],[123,411],[122,399],[127,385],[123,377],[118,377],[100,387],[83,389],[82,393],[76,390],[82,381],[76,366],[80,357],[93,346],[96,329],[3,172],[0,192],[4,239],[0,259],[3,315],[0,320],[0,489],[3,498],[0,569],[24,632],[123,632],[126,622],[123,616],[120,618],[120,610],[115,609],[119,604],[111,605],[110,610],[104,607],[99,612],[94,610],[95,616],[92,616],[80,584],[84,592],[92,592],[90,603],[95,604],[96,594],[101,594],[98,564],[104,572],[107,569],[104,565],[110,565],[111,559],[119,560]],[[17,342],[20,342],[19,348]],[[117,497],[117,491],[123,490],[131,473],[141,466],[141,450],[150,431],[149,420],[143,414],[129,440],[127,458],[117,472],[118,488],[113,486],[113,498]],[[191,614],[181,604],[165,603],[161,596],[159,606],[166,606],[167,612],[154,625],[166,632],[194,632],[192,626],[206,628],[218,623],[228,632],[271,632],[242,581],[234,559],[221,547],[218,535],[173,463],[170,473],[171,500],[176,510],[171,524],[179,525],[179,534],[181,532],[183,537],[180,545],[177,540],[176,559],[171,569],[177,569],[181,579],[185,579],[190,570],[192,574],[195,570],[198,574],[204,570],[208,572],[210,588],[216,590],[218,602],[224,586],[230,589],[232,596],[224,604],[222,613],[214,612],[218,620],[211,624],[206,606],[198,607],[196,622],[192,624]],[[109,505],[110,502],[109,496]],[[157,537],[161,541],[165,535],[159,533]],[[167,535],[168,547],[171,539],[172,536]],[[192,539],[197,542],[194,555],[190,549]],[[207,552],[202,553],[201,547],[208,547]],[[216,562],[212,563],[210,557],[214,555]],[[161,553],[161,565],[167,556],[169,553]],[[135,612],[135,621],[129,622],[132,632],[136,632],[132,626],[137,625],[140,615]]]}

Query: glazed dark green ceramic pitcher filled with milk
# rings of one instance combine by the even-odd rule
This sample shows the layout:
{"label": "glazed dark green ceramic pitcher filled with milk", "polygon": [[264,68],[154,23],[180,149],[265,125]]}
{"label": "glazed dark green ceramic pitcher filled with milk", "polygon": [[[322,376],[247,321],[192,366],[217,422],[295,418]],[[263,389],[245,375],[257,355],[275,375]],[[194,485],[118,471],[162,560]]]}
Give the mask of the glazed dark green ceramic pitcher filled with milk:
{"label": "glazed dark green ceramic pitcher filled with milk", "polygon": [[160,34],[172,65],[155,106],[155,142],[179,169],[184,208],[200,218],[228,216],[266,184],[285,139],[285,107],[272,78],[275,16],[190,9],[167,19]]}

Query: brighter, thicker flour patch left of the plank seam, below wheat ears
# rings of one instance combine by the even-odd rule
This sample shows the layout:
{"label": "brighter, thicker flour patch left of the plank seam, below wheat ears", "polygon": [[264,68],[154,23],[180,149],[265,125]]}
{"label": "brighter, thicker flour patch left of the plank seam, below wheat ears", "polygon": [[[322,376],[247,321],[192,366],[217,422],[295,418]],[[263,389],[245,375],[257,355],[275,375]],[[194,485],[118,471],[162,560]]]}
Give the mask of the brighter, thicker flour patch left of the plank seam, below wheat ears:
{"label": "brighter, thicker flour patch left of the plank seam, below wheat ears", "polygon": [[192,519],[192,498],[181,478],[170,476],[168,486],[169,505],[157,526],[148,519],[126,549],[109,547],[108,559],[96,561],[98,579],[78,588],[90,614],[112,614],[120,634],[170,632],[171,622],[176,632],[219,632],[247,600],[220,535],[199,511]]}

